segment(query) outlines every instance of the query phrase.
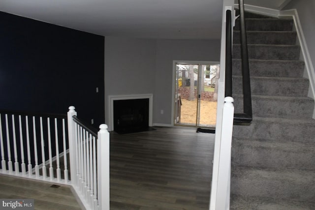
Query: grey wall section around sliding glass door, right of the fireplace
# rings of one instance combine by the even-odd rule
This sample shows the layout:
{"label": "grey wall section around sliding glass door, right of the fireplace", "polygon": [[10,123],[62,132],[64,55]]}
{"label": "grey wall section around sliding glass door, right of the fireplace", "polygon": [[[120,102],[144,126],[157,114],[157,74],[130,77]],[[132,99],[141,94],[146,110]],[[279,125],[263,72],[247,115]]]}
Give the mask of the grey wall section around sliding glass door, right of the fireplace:
{"label": "grey wall section around sliding glass door, right of the fireplace", "polygon": [[154,123],[172,122],[173,60],[220,61],[220,45],[220,40],[157,40]]}

